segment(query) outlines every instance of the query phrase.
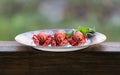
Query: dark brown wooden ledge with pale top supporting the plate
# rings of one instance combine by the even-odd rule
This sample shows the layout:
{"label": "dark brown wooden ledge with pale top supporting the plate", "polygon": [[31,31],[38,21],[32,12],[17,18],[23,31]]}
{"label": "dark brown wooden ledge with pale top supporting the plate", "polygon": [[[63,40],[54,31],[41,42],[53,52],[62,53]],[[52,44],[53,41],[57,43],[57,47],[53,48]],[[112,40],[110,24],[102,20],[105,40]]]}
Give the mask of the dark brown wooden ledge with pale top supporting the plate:
{"label": "dark brown wooden ledge with pale top supporting the plate", "polygon": [[120,74],[120,42],[73,52],[45,52],[15,41],[0,42],[0,75]]}

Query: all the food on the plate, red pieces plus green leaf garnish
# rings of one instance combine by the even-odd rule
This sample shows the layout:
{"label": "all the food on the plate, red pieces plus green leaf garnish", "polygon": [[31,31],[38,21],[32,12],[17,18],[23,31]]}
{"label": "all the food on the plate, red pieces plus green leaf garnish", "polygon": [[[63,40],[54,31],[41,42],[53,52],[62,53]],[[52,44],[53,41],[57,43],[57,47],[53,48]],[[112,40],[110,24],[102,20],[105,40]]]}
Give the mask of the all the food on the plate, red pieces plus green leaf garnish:
{"label": "all the food on the plate, red pieces plus green leaf garnish", "polygon": [[56,31],[53,35],[46,34],[45,32],[40,32],[34,34],[32,39],[36,46],[81,46],[84,45],[88,38],[94,36],[95,31],[90,28],[78,27],[74,29],[71,33],[65,33],[62,30]]}

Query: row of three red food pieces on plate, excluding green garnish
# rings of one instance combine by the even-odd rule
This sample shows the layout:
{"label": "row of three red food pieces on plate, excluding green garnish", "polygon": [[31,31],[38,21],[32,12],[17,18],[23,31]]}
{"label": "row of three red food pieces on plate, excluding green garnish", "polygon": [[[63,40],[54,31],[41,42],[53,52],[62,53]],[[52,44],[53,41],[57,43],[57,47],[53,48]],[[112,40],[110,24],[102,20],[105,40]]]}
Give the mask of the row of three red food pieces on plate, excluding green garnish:
{"label": "row of three red food pieces on plate, excluding green garnish", "polygon": [[86,43],[87,37],[81,32],[75,32],[71,38],[61,30],[58,30],[53,36],[40,32],[32,37],[34,43],[39,46],[65,46],[68,43],[72,46],[81,46]]}

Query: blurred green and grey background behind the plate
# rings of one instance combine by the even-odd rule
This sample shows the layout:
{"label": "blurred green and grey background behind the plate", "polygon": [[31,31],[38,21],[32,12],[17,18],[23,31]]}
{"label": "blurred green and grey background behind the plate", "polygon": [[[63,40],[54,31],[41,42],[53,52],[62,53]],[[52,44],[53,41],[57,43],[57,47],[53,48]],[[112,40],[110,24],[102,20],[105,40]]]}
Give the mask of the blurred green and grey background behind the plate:
{"label": "blurred green and grey background behind the plate", "polygon": [[120,0],[0,0],[0,40],[54,28],[93,27],[120,41]]}

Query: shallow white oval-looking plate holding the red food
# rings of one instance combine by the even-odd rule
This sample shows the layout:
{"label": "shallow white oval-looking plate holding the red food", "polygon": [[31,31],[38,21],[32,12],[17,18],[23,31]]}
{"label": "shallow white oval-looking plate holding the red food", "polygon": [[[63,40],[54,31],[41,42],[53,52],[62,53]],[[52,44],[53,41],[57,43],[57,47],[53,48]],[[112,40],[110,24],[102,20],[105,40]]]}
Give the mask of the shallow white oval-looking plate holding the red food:
{"label": "shallow white oval-looking plate holding the red food", "polygon": [[53,35],[57,30],[62,30],[66,33],[69,33],[72,31],[72,29],[51,29],[51,30],[37,30],[37,31],[31,31],[31,32],[26,32],[26,33],[22,33],[19,34],[15,37],[15,40],[21,44],[27,45],[27,46],[32,46],[35,49],[38,50],[43,50],[43,51],[52,51],[52,52],[65,52],[65,51],[75,51],[75,50],[81,50],[84,48],[87,48],[90,45],[94,45],[94,44],[99,44],[103,41],[106,40],[106,36],[102,33],[99,32],[95,32],[94,36],[89,38],[87,40],[87,42],[82,45],[82,46],[64,46],[64,47],[44,47],[44,46],[35,46],[33,40],[32,40],[32,36],[33,34],[38,34],[40,32],[45,32],[46,34],[51,34]]}

